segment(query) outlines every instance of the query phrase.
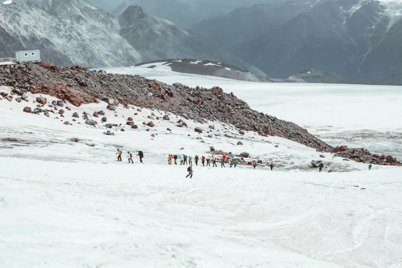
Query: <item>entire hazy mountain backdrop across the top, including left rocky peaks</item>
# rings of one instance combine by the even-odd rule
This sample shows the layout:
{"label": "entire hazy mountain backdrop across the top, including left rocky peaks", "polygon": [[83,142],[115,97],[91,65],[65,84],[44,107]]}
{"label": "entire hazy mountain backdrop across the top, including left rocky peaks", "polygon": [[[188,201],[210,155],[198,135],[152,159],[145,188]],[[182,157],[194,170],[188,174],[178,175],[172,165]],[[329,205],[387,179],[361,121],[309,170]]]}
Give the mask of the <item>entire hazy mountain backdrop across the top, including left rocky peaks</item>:
{"label": "entire hazy mountain backdrop across the top, including left rocky peaks", "polygon": [[0,5],[2,56],[41,49],[44,60],[86,67],[196,59],[276,79],[316,69],[355,83],[400,83],[402,2],[15,1]]}

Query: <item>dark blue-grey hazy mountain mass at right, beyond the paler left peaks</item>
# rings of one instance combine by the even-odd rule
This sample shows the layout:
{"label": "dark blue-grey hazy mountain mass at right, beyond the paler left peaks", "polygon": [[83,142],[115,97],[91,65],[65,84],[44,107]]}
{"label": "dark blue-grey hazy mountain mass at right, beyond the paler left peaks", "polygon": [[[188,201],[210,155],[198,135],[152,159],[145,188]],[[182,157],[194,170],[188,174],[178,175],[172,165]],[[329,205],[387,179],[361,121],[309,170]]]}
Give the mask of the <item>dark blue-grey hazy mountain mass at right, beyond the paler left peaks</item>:
{"label": "dark blue-grey hazy mountain mass at right, beyond the paler left peaks", "polygon": [[255,5],[192,30],[272,78],[306,68],[370,83],[402,68],[402,3],[295,0]]}

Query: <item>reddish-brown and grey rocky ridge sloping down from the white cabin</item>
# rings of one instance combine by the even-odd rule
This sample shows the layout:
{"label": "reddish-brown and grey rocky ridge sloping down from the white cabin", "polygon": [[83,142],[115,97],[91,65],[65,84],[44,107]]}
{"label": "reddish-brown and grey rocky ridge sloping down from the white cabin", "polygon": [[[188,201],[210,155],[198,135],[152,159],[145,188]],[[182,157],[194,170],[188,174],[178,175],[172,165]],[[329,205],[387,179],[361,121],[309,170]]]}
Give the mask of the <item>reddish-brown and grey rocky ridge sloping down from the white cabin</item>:
{"label": "reddish-brown and grey rocky ridge sloping down from the white cabin", "polygon": [[[203,124],[207,121],[231,124],[240,135],[244,131],[255,131],[261,136],[282,137],[317,151],[332,152],[334,149],[292,122],[251,109],[233,93],[224,93],[219,87],[167,85],[138,75],[110,74],[80,66],[56,67],[47,63],[2,66],[0,85],[13,87],[12,91],[17,95],[27,91],[48,94],[74,106],[99,100],[109,102],[110,106],[129,108],[129,105],[135,105],[171,112]],[[3,97],[12,101],[12,95]],[[368,162],[373,158],[373,154],[365,151],[358,160]]]}

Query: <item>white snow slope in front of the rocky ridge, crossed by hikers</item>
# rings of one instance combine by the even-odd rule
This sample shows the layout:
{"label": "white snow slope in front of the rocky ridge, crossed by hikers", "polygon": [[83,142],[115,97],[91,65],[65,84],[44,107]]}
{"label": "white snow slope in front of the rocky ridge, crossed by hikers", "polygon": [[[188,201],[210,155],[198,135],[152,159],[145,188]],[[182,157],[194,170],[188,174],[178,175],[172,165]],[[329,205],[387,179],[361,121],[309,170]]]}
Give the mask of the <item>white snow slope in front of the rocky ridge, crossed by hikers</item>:
{"label": "white snow slope in front of the rocky ridge, crossed by hikers", "polygon": [[[247,90],[244,85],[254,85],[227,83],[231,89],[239,83],[239,94]],[[252,90],[263,90],[255,85]],[[251,92],[250,100],[275,103],[273,94],[256,94]],[[402,266],[401,168],[369,171],[367,164],[330,153],[320,158],[314,149],[286,139],[251,131],[241,136],[219,122],[209,122],[215,129],[208,138],[208,125],[184,119],[188,128],[179,128],[181,118],[174,114],[152,120],[155,127],[150,128],[142,122],[151,121],[152,112],[165,112],[119,106],[114,113],[105,102],[66,104],[72,110],[63,107],[65,118],[55,119],[53,113],[47,118],[23,112],[25,106],[33,109],[39,96],[27,95],[29,103],[0,101],[0,267]],[[329,109],[327,102],[321,106]],[[101,117],[91,117],[100,110],[107,123],[122,124],[108,129],[115,136],[103,134]],[[98,127],[85,125],[82,118],[72,121],[73,112],[81,117],[84,111]],[[138,129],[126,125],[128,117]],[[319,113],[317,120],[315,126],[341,127],[341,122],[324,122]],[[393,127],[400,124],[393,122]],[[344,125],[348,129],[352,123]],[[197,126],[202,134],[194,131]],[[246,151],[263,164],[256,169],[194,166],[192,179],[185,178],[187,166],[167,165],[168,154],[210,156],[209,146],[234,154]],[[118,148],[123,162],[116,161]],[[138,150],[144,151],[145,164],[138,163]],[[127,151],[135,152],[134,164],[126,163]],[[312,160],[324,162],[323,173],[309,167]],[[271,161],[273,171],[265,166]]]}

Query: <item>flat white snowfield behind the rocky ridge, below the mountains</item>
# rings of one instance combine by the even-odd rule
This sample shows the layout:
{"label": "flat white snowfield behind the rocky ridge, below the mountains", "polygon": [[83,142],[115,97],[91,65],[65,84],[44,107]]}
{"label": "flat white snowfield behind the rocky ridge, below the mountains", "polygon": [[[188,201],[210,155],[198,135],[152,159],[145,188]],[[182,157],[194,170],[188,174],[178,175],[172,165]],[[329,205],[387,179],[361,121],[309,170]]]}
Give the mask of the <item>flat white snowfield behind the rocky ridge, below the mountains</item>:
{"label": "flat white snowfield behind the rocky ridge, below the mountains", "polygon": [[106,68],[167,84],[219,86],[252,108],[307,128],[333,146],[364,147],[402,159],[402,87],[253,83],[137,67]]}

